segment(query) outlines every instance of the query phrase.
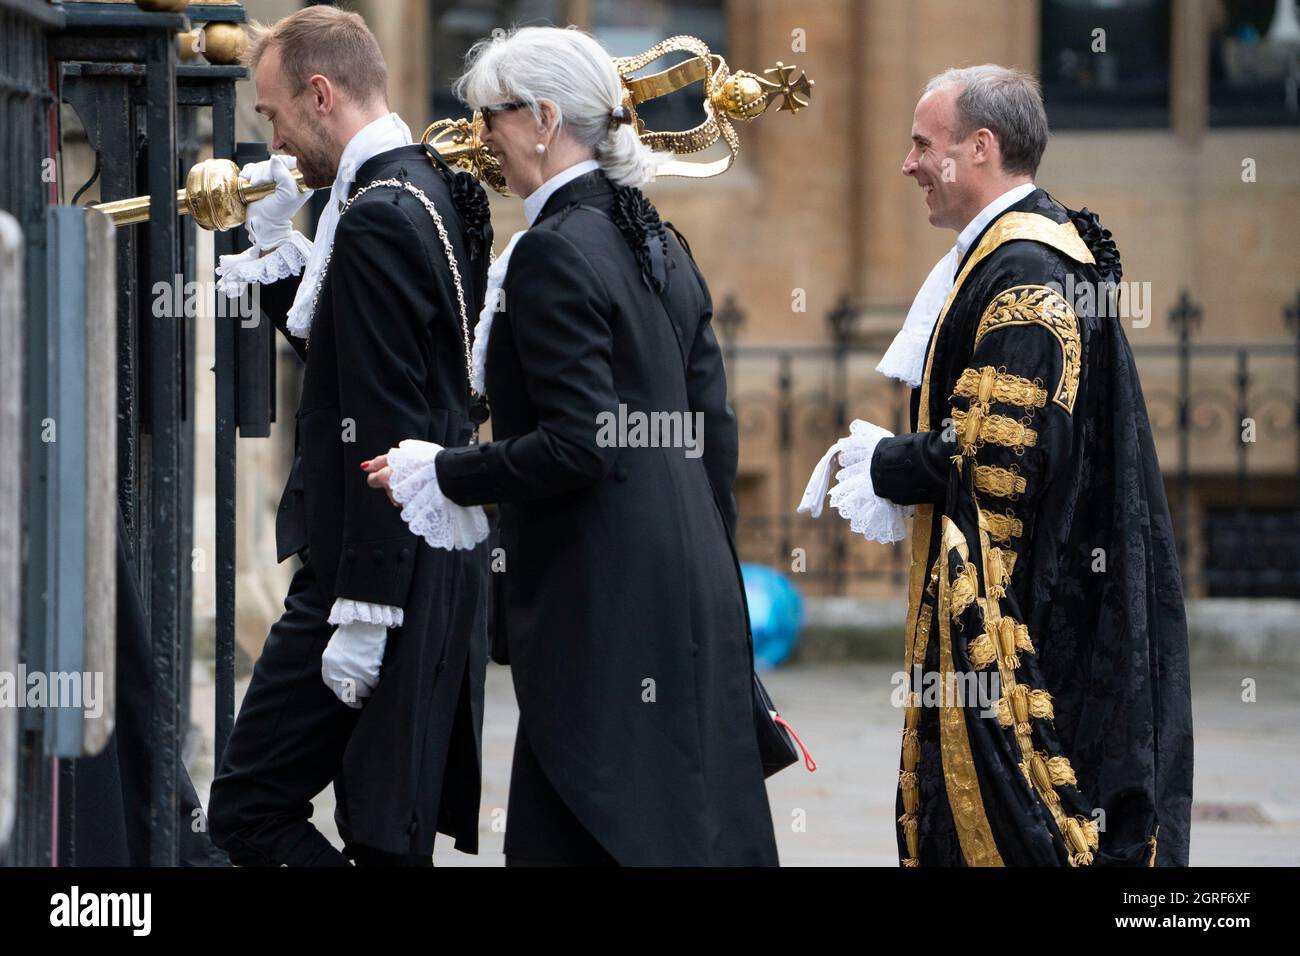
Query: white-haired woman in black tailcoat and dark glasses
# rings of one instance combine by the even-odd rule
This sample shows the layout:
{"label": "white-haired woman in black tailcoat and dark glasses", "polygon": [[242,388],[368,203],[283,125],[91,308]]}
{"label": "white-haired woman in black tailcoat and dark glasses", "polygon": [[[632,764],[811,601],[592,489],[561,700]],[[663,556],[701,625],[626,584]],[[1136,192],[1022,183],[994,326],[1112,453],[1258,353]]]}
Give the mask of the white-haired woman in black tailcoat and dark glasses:
{"label": "white-haired woman in black tailcoat and dark glasses", "polygon": [[370,481],[434,536],[499,506],[497,641],[520,709],[507,864],[775,865],[736,423],[708,289],[636,189],[660,157],[577,30],[478,44],[459,91],[532,226],[476,329],[494,440],[402,442]]}

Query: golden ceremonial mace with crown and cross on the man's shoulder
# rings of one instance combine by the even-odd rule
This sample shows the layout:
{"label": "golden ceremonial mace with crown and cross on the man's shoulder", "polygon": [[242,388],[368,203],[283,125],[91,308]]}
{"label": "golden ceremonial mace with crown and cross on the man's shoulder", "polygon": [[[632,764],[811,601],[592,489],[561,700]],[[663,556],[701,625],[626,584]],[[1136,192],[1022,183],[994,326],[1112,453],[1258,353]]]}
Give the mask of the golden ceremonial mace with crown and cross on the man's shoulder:
{"label": "golden ceremonial mace with crown and cross on the man's shoulder", "polygon": [[[688,52],[692,56],[647,77],[630,75],[673,51]],[[671,160],[659,166],[659,176],[706,178],[724,173],[740,151],[740,139],[731,121],[749,122],[762,116],[774,101],[779,101],[777,112],[784,109],[798,113],[809,104],[812,92],[812,81],[803,74],[794,77],[796,68],[786,66],[780,60],[772,69],[763,70],[766,77],[744,70],[731,73],[725,60],[711,53],[708,47],[694,36],[671,36],[645,53],[616,57],[614,62],[623,79],[623,104],[632,112],[637,134],[647,146],[675,153],[690,153],[706,150],[723,139],[729,151],[728,156],[711,163]],[[705,85],[705,122],[681,131],[660,133],[646,129],[636,112],[638,104],[697,82]],[[437,150],[448,165],[472,173],[506,195],[506,179],[500,173],[500,165],[480,140],[482,120],[477,113],[472,120],[438,120],[425,129],[420,142]],[[304,190],[302,173],[296,169],[294,178],[299,189]],[[225,232],[244,221],[248,203],[274,191],[274,182],[251,185],[239,176],[239,166],[231,160],[211,159],[190,169],[185,177],[185,189],[177,190],[176,206],[179,215],[194,216],[194,221],[204,229]],[[91,208],[108,215],[117,226],[147,222],[150,219],[148,196],[117,199]]]}

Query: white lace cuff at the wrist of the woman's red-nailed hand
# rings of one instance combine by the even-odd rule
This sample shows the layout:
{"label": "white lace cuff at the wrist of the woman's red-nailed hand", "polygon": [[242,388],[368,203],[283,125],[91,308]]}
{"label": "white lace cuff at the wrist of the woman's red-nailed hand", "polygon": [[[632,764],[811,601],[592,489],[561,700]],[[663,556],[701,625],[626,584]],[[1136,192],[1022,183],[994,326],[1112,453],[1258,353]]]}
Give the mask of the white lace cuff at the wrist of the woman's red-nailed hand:
{"label": "white lace cuff at the wrist of the woman's red-nailed hand", "polygon": [[465,507],[442,493],[434,467],[439,451],[442,445],[415,438],[389,449],[389,490],[402,505],[402,520],[430,548],[468,550],[488,537],[488,515],[477,505]]}

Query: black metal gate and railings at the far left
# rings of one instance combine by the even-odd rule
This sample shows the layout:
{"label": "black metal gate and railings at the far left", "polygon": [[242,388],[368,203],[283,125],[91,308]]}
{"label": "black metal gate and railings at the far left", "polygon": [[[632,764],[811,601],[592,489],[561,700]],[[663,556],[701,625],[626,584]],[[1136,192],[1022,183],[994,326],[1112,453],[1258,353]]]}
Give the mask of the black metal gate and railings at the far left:
{"label": "black metal gate and railings at the far left", "polygon": [[[114,237],[116,287],[110,294],[116,350],[110,351],[116,352],[116,476],[101,477],[116,490],[117,514],[112,520],[120,528],[127,571],[138,581],[151,636],[153,865],[177,862],[178,827],[186,825],[178,819],[177,782],[183,773],[181,752],[188,728],[195,376],[209,371],[216,375],[217,533],[212,563],[217,593],[218,758],[234,722],[235,432],[269,434],[273,410],[269,324],[216,319],[214,368],[195,369],[195,315],[187,295],[194,286],[187,284],[196,278],[196,237],[192,221],[178,217],[176,200],[178,181],[207,146],[199,137],[204,114],[211,117],[212,155],[246,159],[237,156],[234,129],[234,83],[246,75],[244,68],[198,59],[181,62],[178,35],[196,23],[243,20],[243,8],[234,4],[191,4],[183,13],[152,13],[127,4],[0,0],[0,155],[5,156],[0,209],[21,225],[29,263],[21,310],[27,333],[25,421],[42,419],[44,395],[55,388],[62,360],[64,339],[53,332],[57,310],[52,297],[40,290],[75,286],[72,280],[78,278],[66,269],[58,272],[66,264],[53,259],[62,246],[56,246],[51,224],[86,216],[57,208],[65,199],[64,187],[75,190],[66,196],[74,207],[92,182],[98,182],[104,202],[139,194],[151,199],[151,221],[121,228]],[[75,112],[94,151],[95,172],[86,183],[64,185],[56,176],[44,186],[34,176],[34,170],[49,169],[51,164],[61,173],[60,101]],[[265,147],[251,144],[239,152],[251,157],[259,151]],[[214,252],[233,252],[237,242],[235,233],[218,233]],[[83,299],[94,304],[95,297],[108,294],[112,286],[110,280],[103,286],[86,280]],[[212,290],[204,293],[211,302]],[[224,315],[222,310],[204,311]],[[75,385],[62,378],[58,382],[58,388]],[[86,381],[81,386],[94,385]],[[66,489],[58,493],[57,468],[46,460],[56,455],[42,454],[40,437],[32,429],[26,429],[23,441],[31,453],[32,476],[25,479],[22,489],[21,540],[9,544],[25,575],[21,614],[14,615],[21,620],[18,657],[22,666],[34,669],[57,657],[49,637],[57,597],[53,576],[66,549],[64,538],[51,536],[51,525],[69,524],[75,494]],[[20,455],[8,440],[5,445],[5,457]],[[86,480],[95,477],[87,475]],[[101,514],[94,518],[104,520]],[[74,541],[75,535],[68,540]],[[83,627],[87,646],[92,640],[104,640],[100,632],[113,631],[112,622],[87,619],[75,624]],[[79,650],[74,648],[68,659],[83,666],[86,658]],[[8,834],[6,793],[0,786],[0,861],[75,865],[75,762],[92,750],[83,739],[52,734],[40,714],[22,713],[13,740],[5,740],[3,731],[0,724],[0,782],[6,765],[16,765],[17,777],[9,782]]]}

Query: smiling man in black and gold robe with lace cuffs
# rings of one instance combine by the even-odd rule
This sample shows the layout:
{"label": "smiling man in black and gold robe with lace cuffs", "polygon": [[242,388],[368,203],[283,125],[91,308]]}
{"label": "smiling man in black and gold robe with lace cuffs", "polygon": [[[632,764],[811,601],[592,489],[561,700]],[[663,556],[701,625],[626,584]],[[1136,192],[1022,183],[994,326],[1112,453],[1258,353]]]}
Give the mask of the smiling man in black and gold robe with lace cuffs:
{"label": "smiling man in black and gold robe with lace cuffs", "polygon": [[[1114,243],[1034,186],[1031,77],[936,77],[913,142],[904,173],[959,230],[946,295],[927,281],[928,336],[909,316],[913,433],[838,451],[859,510],[914,506],[901,862],[1186,865],[1187,624]],[[881,371],[907,380],[907,351]]]}

